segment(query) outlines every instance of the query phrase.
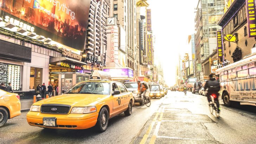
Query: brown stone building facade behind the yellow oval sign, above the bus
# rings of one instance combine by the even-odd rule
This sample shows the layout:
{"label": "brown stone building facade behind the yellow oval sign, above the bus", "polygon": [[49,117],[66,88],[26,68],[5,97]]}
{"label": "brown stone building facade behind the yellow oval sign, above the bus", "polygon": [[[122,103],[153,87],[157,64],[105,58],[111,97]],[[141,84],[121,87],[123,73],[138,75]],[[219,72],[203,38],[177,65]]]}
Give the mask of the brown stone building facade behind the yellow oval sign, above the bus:
{"label": "brown stone building facade behind the yellow oval sign, above the bus", "polygon": [[223,37],[228,34],[236,37],[232,42],[223,39],[224,59],[234,63],[252,53],[256,39],[249,38],[245,0],[233,0],[228,6],[218,25],[222,27]]}

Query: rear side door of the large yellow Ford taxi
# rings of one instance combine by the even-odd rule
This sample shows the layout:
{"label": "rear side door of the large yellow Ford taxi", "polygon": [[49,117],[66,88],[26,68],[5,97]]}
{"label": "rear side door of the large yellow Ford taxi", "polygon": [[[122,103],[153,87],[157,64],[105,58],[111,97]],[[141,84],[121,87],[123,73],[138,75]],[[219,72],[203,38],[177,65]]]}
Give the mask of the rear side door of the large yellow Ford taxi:
{"label": "rear side door of the large yellow Ford taxi", "polygon": [[121,91],[121,103],[123,104],[123,109],[122,110],[127,110],[129,102],[130,102],[130,93],[126,90],[123,84],[121,83],[116,83],[117,86],[119,87],[119,90]]}

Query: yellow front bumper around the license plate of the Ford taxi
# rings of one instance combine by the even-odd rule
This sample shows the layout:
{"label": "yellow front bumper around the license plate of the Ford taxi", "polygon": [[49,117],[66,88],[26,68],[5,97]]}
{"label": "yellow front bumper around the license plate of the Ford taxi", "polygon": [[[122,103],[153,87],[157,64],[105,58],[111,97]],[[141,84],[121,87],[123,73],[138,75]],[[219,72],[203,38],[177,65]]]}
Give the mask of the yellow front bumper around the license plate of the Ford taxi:
{"label": "yellow front bumper around the license plate of the Ford taxi", "polygon": [[[56,126],[44,126],[43,118],[55,117]],[[98,113],[89,114],[45,114],[40,112],[28,112],[27,122],[31,126],[50,129],[88,129],[97,123]]]}

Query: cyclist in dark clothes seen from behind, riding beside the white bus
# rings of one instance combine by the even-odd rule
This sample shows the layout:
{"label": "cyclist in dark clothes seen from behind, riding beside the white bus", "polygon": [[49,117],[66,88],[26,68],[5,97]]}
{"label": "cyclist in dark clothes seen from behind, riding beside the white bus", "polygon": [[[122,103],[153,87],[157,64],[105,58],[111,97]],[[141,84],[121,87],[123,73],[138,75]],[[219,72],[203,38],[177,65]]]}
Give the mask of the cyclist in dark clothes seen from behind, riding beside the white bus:
{"label": "cyclist in dark clothes seen from behind, riding beside the white bus", "polygon": [[219,97],[219,90],[220,90],[220,85],[219,85],[219,81],[216,80],[214,77],[213,77],[213,74],[210,74],[210,80],[207,80],[205,85],[204,85],[204,90],[208,89],[208,92],[206,93],[206,97],[207,97],[207,100],[209,102],[209,104],[212,103],[211,101],[211,94],[216,94],[217,96],[217,100],[216,100],[216,105],[218,107],[218,110],[220,111],[219,109],[219,100],[218,100],[218,97]]}

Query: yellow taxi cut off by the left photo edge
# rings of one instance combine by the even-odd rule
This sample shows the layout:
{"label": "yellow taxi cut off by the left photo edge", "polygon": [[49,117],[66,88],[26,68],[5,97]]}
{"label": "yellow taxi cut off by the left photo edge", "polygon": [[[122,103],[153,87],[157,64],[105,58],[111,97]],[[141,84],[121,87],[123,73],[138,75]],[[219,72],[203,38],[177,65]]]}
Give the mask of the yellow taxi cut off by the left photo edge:
{"label": "yellow taxi cut off by the left photo edge", "polygon": [[0,127],[8,119],[20,115],[20,99],[18,94],[0,90]]}

